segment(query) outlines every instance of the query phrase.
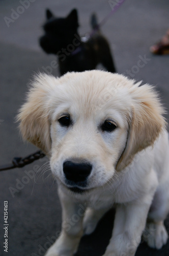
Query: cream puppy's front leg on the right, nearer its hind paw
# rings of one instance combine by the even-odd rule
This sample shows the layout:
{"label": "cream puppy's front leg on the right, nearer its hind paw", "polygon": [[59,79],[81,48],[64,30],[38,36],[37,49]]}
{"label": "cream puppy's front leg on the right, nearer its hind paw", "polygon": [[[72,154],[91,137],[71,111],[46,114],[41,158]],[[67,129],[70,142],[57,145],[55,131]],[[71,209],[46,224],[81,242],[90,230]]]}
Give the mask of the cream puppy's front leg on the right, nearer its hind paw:
{"label": "cream puppy's front leg on the right, nearer its hind paw", "polygon": [[[149,202],[148,202],[149,201]],[[103,256],[134,256],[140,243],[151,200],[118,205],[114,229]]]}

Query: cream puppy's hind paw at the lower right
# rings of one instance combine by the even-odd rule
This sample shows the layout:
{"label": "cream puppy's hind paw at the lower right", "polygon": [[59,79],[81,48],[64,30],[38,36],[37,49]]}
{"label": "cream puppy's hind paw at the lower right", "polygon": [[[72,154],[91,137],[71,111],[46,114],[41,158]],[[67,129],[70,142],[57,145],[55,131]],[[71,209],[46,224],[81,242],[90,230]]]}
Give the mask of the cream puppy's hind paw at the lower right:
{"label": "cream puppy's hind paw at the lower right", "polygon": [[151,248],[161,249],[167,242],[168,234],[162,222],[148,223],[143,238]]}

